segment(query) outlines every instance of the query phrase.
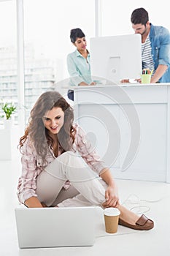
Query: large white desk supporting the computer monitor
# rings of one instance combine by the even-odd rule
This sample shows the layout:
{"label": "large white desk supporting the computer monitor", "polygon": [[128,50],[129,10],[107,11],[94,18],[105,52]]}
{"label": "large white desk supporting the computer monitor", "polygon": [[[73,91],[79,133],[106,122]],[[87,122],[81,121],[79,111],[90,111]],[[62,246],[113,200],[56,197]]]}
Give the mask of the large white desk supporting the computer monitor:
{"label": "large white desk supporting the computer monitor", "polygon": [[170,84],[72,89],[75,121],[115,178],[170,183]]}

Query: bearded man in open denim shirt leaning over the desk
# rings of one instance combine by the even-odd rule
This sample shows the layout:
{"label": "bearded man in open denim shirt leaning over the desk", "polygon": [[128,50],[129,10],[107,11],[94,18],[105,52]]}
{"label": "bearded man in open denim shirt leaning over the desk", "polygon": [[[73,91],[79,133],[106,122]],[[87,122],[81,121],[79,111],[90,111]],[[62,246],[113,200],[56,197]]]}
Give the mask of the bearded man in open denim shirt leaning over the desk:
{"label": "bearded man in open denim shirt leaning over the desk", "polygon": [[169,30],[163,26],[153,26],[144,8],[132,12],[131,23],[135,33],[142,35],[142,69],[153,69],[151,83],[169,83]]}

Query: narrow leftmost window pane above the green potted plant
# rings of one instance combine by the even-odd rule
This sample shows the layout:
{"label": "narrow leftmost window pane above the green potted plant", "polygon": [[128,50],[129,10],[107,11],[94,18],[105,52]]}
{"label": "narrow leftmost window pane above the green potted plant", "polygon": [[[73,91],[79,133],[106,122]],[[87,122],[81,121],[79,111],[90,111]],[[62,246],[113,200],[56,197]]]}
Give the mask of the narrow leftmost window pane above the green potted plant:
{"label": "narrow leftmost window pane above the green potted plant", "polygon": [[[0,102],[18,104],[15,1],[0,1]],[[0,116],[2,111],[0,110]],[[15,123],[18,121],[15,114]],[[2,126],[0,118],[0,126]]]}

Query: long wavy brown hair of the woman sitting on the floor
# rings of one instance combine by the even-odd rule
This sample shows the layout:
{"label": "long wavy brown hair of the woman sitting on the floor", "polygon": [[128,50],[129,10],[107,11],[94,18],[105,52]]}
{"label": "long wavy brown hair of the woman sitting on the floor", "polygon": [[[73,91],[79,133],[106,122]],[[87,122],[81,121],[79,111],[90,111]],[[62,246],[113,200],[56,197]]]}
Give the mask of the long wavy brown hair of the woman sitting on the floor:
{"label": "long wavy brown hair of the woman sitting on the floor", "polygon": [[42,157],[43,162],[49,153],[49,147],[53,148],[53,138],[50,137],[48,129],[45,128],[45,124],[42,121],[42,117],[48,110],[53,108],[61,108],[64,112],[64,123],[58,134],[56,134],[56,140],[58,141],[58,148],[55,149],[55,157],[58,157],[58,149],[60,148],[61,154],[65,151],[69,151],[74,143],[73,127],[74,114],[73,109],[66,102],[58,91],[46,91],[39,99],[37,99],[34,107],[31,110],[28,127],[25,134],[20,138],[19,147],[20,151],[26,139],[29,137],[29,142],[33,143],[36,153]]}

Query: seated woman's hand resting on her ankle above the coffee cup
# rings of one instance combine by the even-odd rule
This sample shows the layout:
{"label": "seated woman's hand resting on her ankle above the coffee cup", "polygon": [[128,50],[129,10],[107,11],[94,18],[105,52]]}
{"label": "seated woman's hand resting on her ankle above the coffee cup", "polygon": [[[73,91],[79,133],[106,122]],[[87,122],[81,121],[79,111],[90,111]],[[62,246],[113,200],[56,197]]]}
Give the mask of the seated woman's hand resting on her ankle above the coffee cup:
{"label": "seated woman's hand resting on her ankle above the coffee cup", "polygon": [[106,201],[103,203],[104,208],[117,207],[119,205],[119,196],[116,186],[108,186],[105,192]]}

